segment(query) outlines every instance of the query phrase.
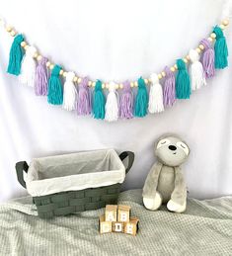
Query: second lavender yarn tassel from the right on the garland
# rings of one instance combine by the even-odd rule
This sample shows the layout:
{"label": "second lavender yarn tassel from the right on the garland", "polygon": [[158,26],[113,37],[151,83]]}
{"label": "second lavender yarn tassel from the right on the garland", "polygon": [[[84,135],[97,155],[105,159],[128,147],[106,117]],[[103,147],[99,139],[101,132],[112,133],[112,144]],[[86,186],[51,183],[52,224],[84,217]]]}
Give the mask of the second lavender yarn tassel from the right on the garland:
{"label": "second lavender yarn tassel from the right on the garland", "polygon": [[176,101],[175,89],[175,75],[168,66],[164,69],[165,82],[164,82],[164,107],[172,107]]}

